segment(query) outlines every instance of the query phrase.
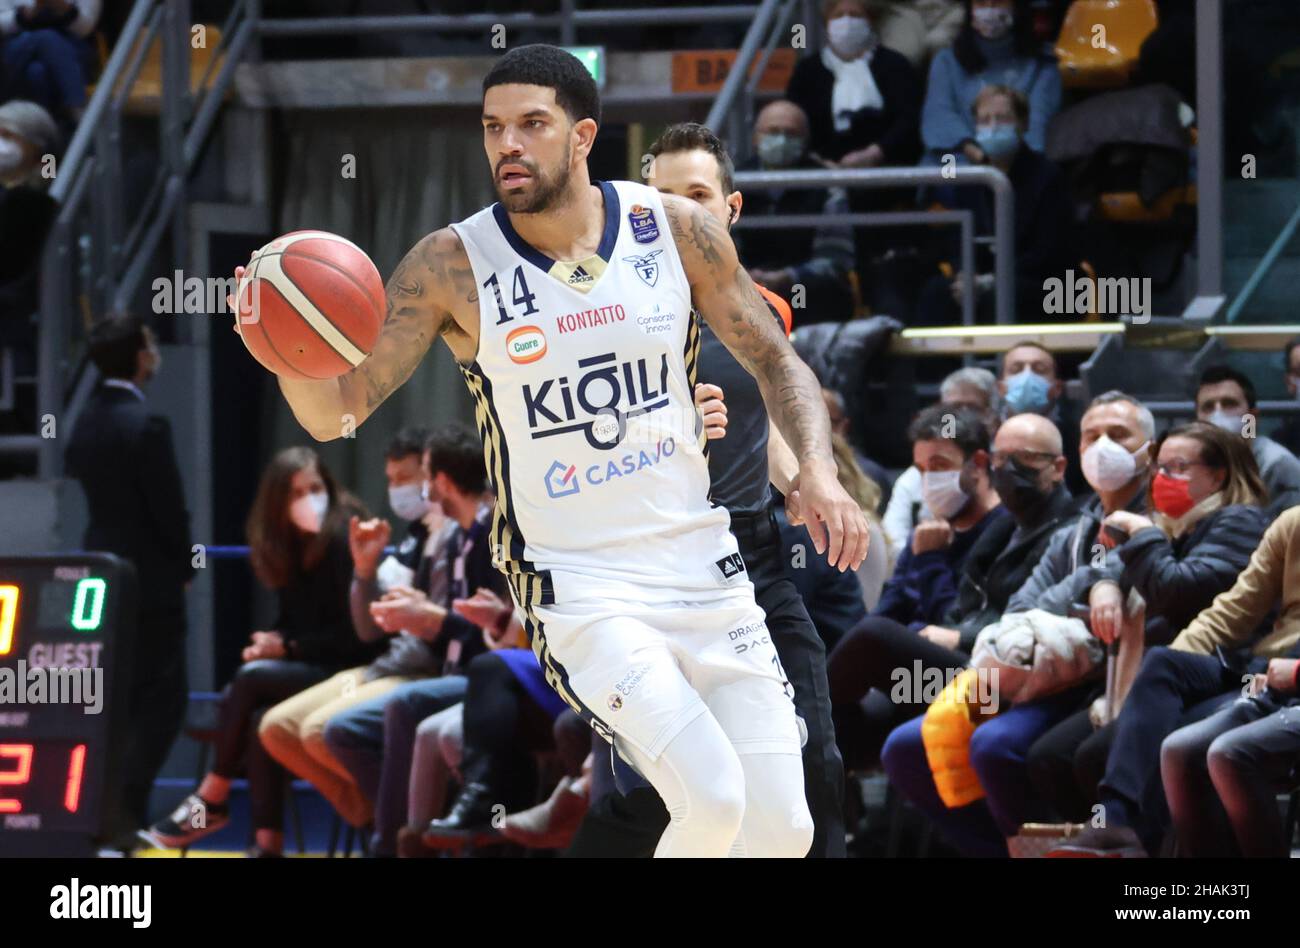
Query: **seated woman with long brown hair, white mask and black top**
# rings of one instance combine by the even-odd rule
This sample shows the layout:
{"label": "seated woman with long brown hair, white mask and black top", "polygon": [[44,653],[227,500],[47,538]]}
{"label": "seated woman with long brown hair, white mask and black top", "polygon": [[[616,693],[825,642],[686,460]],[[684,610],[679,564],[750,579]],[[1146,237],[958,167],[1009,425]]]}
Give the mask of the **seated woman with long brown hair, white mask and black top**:
{"label": "seated woman with long brown hair, white mask and black top", "polygon": [[348,619],[352,576],[348,518],[365,511],[308,447],[277,454],[248,514],[257,579],[280,598],[274,627],[254,632],[243,666],[218,704],[212,770],[148,835],[160,847],[188,847],[230,822],[230,782],[248,775],[256,853],[283,848],[287,775],[256,740],[266,709],[354,665],[365,653]]}

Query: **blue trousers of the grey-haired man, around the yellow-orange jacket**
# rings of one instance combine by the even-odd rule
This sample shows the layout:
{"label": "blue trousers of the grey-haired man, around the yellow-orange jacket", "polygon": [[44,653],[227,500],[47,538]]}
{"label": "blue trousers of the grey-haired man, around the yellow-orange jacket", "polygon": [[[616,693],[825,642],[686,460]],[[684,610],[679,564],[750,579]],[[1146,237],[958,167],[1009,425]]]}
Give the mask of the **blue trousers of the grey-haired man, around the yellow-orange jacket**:
{"label": "blue trousers of the grey-haired man, around the yellow-orange jacket", "polygon": [[933,821],[963,856],[1005,857],[1006,837],[1019,832],[1030,815],[1032,796],[1026,757],[1048,728],[1076,711],[1080,689],[1017,705],[980,724],[971,736],[970,759],[984,798],[950,809],[935,788],[935,778],[920,740],[924,718],[913,718],[889,732],[880,752],[889,782]]}

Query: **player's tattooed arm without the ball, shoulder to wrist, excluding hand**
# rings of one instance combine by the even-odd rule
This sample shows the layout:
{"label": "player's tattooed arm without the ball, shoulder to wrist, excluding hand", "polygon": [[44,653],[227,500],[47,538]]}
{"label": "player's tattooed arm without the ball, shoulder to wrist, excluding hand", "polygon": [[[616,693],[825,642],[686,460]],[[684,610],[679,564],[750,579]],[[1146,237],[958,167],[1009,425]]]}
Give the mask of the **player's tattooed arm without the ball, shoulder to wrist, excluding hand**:
{"label": "player's tattooed arm without the ball, shoulder to wrist, excluding hand", "polygon": [[663,204],[699,315],[758,381],[768,414],[794,453],[833,469],[822,386],[740,265],[731,235],[696,202],[663,195]]}

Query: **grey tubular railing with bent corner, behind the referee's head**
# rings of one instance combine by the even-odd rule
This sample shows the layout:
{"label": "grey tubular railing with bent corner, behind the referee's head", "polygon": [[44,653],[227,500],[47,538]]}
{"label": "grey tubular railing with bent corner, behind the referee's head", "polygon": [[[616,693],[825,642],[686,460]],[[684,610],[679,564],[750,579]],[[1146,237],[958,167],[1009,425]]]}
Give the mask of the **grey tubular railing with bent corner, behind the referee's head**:
{"label": "grey tubular railing with bent corner, behind the referee's head", "polygon": [[[988,165],[958,168],[841,168],[841,169],[800,169],[789,172],[737,172],[736,186],[740,189],[777,187],[926,187],[926,186],[980,186],[993,192],[993,293],[997,321],[1014,321],[1015,309],[1015,195],[1010,179],[1002,172]],[[953,222],[950,213],[928,211],[902,211],[890,213],[850,215],[868,224],[940,224]],[[837,215],[827,215],[824,222],[833,222]],[[741,217],[737,226],[745,221]],[[961,217],[956,222],[962,222]],[[753,226],[750,224],[749,226]],[[962,267],[966,280],[963,300],[972,300],[971,290],[974,254],[967,244],[974,243],[972,229],[963,226]],[[963,321],[974,323],[974,311]]]}

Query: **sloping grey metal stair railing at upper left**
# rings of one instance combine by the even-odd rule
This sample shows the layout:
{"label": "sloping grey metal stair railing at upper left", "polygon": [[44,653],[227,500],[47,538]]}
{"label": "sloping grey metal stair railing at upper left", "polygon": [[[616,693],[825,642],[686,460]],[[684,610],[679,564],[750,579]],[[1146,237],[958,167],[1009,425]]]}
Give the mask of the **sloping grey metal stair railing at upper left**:
{"label": "sloping grey metal stair railing at upper left", "polygon": [[[208,70],[191,91],[188,0],[135,0],[49,191],[60,209],[40,261],[38,416],[53,416],[64,427],[75,419],[91,381],[78,349],[79,329],[88,313],[127,306],[168,231],[173,264],[183,267],[186,178],[230,88],[234,68],[256,35],[259,12],[260,0],[237,0]],[[156,42],[161,43],[161,161],[144,199],[127,213],[122,117]],[[43,479],[60,471],[57,442],[51,437],[0,436],[0,453],[36,454]]]}

